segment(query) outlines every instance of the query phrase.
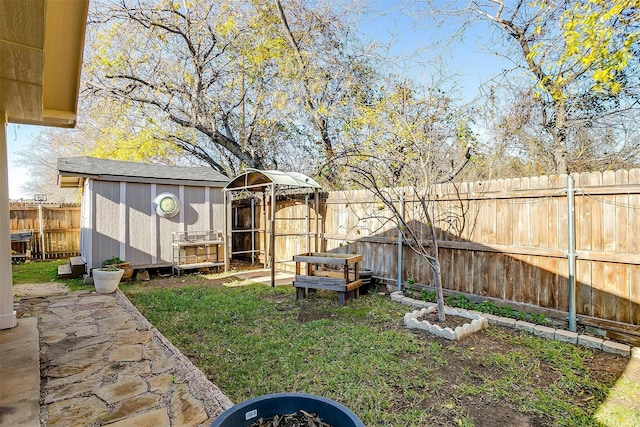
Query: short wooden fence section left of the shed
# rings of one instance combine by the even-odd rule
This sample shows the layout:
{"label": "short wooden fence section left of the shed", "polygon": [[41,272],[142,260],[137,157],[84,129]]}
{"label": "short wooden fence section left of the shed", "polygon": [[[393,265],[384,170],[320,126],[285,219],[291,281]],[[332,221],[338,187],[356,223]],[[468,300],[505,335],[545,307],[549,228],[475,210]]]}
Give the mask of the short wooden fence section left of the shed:
{"label": "short wooden fence section left of the shed", "polygon": [[12,243],[14,258],[63,258],[80,253],[79,204],[11,202],[9,221],[12,235],[31,234],[27,242]]}

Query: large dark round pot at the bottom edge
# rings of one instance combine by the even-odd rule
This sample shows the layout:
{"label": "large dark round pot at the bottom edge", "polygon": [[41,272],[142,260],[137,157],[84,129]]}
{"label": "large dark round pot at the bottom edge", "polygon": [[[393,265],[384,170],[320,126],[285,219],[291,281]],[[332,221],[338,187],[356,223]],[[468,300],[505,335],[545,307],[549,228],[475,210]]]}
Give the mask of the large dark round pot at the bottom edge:
{"label": "large dark round pot at the bottom edge", "polygon": [[277,393],[254,397],[229,408],[211,427],[245,427],[258,418],[292,414],[303,409],[313,412],[334,427],[364,427],[360,419],[346,406],[320,396],[304,393]]}

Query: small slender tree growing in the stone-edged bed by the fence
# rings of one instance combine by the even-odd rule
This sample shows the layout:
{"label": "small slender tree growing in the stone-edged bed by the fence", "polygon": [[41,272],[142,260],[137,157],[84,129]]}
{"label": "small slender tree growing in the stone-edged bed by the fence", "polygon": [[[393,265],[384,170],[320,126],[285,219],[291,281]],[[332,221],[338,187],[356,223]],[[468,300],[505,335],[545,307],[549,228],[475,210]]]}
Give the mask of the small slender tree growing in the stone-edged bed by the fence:
{"label": "small slender tree growing in the stone-edged bed by the fence", "polygon": [[[344,164],[353,184],[370,190],[391,212],[383,223],[395,223],[404,244],[431,267],[444,321],[433,188],[461,173],[475,136],[467,114],[443,92],[420,92],[400,82],[387,87],[392,89],[379,93],[375,103],[361,106]],[[401,212],[403,193],[415,203],[410,214]]]}

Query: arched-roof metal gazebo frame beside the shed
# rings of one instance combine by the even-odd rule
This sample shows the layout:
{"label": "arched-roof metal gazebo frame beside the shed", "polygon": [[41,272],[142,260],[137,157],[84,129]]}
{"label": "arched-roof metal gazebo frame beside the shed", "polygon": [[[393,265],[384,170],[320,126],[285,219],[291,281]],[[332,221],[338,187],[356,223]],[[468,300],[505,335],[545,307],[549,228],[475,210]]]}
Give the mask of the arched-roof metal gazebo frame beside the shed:
{"label": "arched-roof metal gazebo frame beside the shed", "polygon": [[[223,189],[222,192],[224,194],[224,205],[225,205],[225,236],[227,239],[228,245],[228,254],[226,257],[227,264],[231,257],[238,253],[246,253],[245,252],[233,252],[233,227],[230,224],[229,212],[232,208],[231,202],[232,197],[230,193],[232,192],[251,192],[251,193],[261,193],[263,206],[265,210],[265,229],[263,232],[265,233],[265,245],[266,245],[266,234],[269,234],[269,249],[268,251],[265,248],[265,267],[266,262],[268,261],[271,267],[271,286],[275,286],[275,265],[276,265],[276,254],[275,254],[275,238],[278,236],[276,234],[275,227],[275,215],[276,215],[276,203],[278,196],[278,192],[282,193],[285,190],[295,190],[295,189],[307,189],[313,190],[314,193],[314,209],[316,211],[316,232],[315,233],[307,233],[307,236],[311,236],[311,234],[315,234],[315,248],[317,250],[319,244],[319,218],[318,218],[318,190],[322,187],[312,178],[298,173],[298,172],[281,172],[277,170],[258,170],[258,169],[247,169],[246,172],[240,174],[233,178]],[[266,207],[267,207],[267,197],[269,198],[270,204],[270,215],[269,215],[269,229],[266,229],[267,221],[266,221]],[[227,206],[229,203],[229,206]],[[251,227],[251,241],[252,241],[252,258],[255,255],[255,229],[253,226],[253,219],[255,218],[255,203],[252,200],[251,203],[251,215],[252,215],[252,227]],[[284,235],[284,234],[283,234]],[[310,251],[310,248],[307,248]],[[227,265],[228,269],[228,265]]]}

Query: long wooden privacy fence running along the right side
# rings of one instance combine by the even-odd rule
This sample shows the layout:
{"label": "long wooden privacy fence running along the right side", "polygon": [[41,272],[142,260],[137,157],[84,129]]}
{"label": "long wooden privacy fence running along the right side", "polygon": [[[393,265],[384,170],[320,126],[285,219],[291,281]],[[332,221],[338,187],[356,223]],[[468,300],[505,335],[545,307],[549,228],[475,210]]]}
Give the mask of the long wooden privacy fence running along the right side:
{"label": "long wooden privacy fence running along the right side", "polygon": [[[640,335],[640,170],[572,177],[578,321],[603,326],[603,319],[608,328]],[[566,175],[438,185],[431,194],[446,289],[568,311]],[[281,234],[314,232],[314,221],[300,218],[318,215],[318,249],[362,254],[377,277],[429,283],[429,266],[408,247],[398,262],[398,229],[380,201],[364,190],[324,197],[310,214],[308,203],[279,200],[276,223],[287,231]],[[408,190],[402,207],[426,240],[426,221]],[[276,253],[291,260],[315,250],[308,242],[276,240]]]}

